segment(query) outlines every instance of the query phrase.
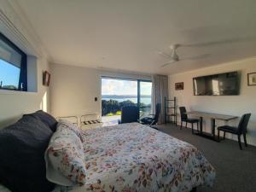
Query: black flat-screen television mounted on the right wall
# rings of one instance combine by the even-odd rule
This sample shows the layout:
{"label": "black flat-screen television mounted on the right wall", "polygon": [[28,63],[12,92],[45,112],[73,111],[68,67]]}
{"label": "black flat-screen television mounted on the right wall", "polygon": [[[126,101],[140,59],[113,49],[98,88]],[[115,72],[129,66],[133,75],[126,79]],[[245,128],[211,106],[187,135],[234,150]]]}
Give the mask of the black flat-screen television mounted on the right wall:
{"label": "black flat-screen television mounted on the right wall", "polygon": [[219,73],[193,78],[194,96],[237,96],[238,72]]}

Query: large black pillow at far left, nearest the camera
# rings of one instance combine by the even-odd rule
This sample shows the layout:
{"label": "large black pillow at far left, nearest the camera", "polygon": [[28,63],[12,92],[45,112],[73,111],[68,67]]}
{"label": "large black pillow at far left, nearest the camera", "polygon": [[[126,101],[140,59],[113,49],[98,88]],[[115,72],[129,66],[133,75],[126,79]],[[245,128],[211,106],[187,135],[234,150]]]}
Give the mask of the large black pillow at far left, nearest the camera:
{"label": "large black pillow at far left, nearest the camera", "polygon": [[47,192],[44,151],[53,132],[39,119],[26,115],[0,131],[0,181],[13,192]]}

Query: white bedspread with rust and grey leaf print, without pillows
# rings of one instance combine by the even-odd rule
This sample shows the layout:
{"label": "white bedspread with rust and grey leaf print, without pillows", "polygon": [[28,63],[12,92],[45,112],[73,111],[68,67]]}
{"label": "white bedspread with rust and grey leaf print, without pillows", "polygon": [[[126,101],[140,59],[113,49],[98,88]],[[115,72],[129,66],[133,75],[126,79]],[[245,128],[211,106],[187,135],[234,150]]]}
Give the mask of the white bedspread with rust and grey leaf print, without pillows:
{"label": "white bedspread with rust and grey leaf print, without pillows", "polygon": [[213,184],[214,168],[197,148],[146,125],[102,127],[82,136],[86,183],[65,190],[181,192]]}

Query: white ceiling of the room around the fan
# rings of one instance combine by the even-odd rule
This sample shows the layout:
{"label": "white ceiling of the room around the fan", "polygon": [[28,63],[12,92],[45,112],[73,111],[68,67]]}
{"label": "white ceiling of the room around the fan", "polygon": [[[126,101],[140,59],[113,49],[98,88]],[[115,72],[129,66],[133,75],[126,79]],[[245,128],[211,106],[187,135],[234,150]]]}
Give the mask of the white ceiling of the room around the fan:
{"label": "white ceiling of the room around the fan", "polygon": [[[181,73],[256,55],[255,0],[19,0],[50,61],[137,73]],[[180,47],[179,61],[157,51]]]}

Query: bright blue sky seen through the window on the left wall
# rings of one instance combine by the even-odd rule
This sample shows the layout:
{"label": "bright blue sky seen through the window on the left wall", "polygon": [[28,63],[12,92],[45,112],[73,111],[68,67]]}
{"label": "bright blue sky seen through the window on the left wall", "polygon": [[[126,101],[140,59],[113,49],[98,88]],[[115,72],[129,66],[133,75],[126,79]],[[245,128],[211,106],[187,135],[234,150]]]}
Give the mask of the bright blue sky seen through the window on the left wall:
{"label": "bright blue sky seen through the window on the left wall", "polygon": [[0,83],[3,85],[15,85],[18,87],[20,68],[0,59]]}

